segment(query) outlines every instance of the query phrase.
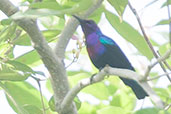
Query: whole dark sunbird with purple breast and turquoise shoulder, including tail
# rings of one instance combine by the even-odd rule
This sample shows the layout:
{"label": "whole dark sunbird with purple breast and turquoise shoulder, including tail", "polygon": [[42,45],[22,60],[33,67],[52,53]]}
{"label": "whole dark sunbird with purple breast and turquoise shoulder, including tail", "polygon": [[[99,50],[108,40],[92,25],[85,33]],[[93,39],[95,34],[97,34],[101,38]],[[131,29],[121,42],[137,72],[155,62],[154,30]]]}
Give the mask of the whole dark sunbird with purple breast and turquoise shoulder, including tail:
{"label": "whole dark sunbird with purple breast and turquoise shoulder, including tail", "polygon": [[[86,47],[92,63],[99,70],[109,65],[114,68],[123,68],[135,71],[120,47],[111,38],[105,36],[93,20],[84,20],[73,15],[81,25],[86,38]],[[132,88],[138,99],[143,99],[148,94],[134,80],[120,77]]]}

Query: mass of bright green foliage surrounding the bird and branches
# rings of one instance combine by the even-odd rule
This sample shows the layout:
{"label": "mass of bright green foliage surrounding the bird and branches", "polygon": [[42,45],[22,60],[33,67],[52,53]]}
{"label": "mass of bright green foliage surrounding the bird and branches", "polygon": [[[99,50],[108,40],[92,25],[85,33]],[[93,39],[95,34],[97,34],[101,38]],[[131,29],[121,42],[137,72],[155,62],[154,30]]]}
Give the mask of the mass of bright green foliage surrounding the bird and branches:
{"label": "mass of bright green foliage surrounding the bird and branches", "polygon": [[[124,11],[128,1],[107,0],[105,2],[108,2],[117,13],[111,13],[106,8],[107,5],[103,4],[91,16],[89,16],[89,18],[98,23],[104,13],[105,18],[112,25],[113,29],[137,49],[136,54],[145,57],[148,61],[151,61],[153,58],[152,52],[141,33],[128,22],[123,20]],[[39,90],[28,82],[28,78],[31,78],[31,76],[44,75],[45,72],[34,70],[36,66],[41,66],[43,64],[40,56],[34,49],[27,52],[23,51],[23,53],[18,57],[15,56],[17,53],[15,51],[17,46],[22,46],[22,50],[24,50],[26,47],[31,47],[32,43],[30,36],[13,20],[23,17],[38,18],[43,28],[41,32],[49,44],[54,44],[54,42],[57,42],[58,35],[63,30],[65,22],[67,21],[65,17],[71,17],[72,14],[83,13],[93,5],[93,3],[93,0],[43,0],[43,2],[37,3],[32,0],[22,0],[20,7],[28,8],[26,11],[18,12],[10,18],[0,20],[0,90],[4,90],[9,105],[16,113],[42,114],[43,107]],[[163,4],[161,4],[161,8],[163,7],[166,7],[166,3],[164,1]],[[164,26],[169,23],[170,20],[164,19],[159,21],[155,26]],[[150,39],[150,41],[153,46],[159,49],[162,55],[170,48],[168,38],[168,42],[165,44],[159,44],[153,39]],[[22,50],[17,51],[22,52]],[[82,58],[87,59],[87,53],[84,47],[79,54],[81,57],[78,61],[81,61],[80,59]],[[72,55],[72,51],[68,50],[66,52],[66,61],[71,62],[73,59]],[[83,60],[83,63],[85,63],[85,61],[89,60]],[[171,60],[167,60],[167,62],[171,65]],[[81,66],[82,65],[78,62],[76,70],[67,69],[70,87],[74,87],[79,80],[90,77],[94,72],[97,72],[97,70],[93,66],[91,67],[91,65],[89,66],[89,68],[91,68],[88,71]],[[154,72],[150,74],[150,77],[154,77],[153,74]],[[157,75],[158,74],[159,72],[157,72]],[[156,82],[152,83],[155,84]],[[49,79],[46,80],[46,85],[46,89],[48,89],[50,94],[53,95]],[[168,104],[171,103],[170,86],[168,86],[167,89],[156,87],[154,90],[165,102]],[[79,114],[171,113],[171,109],[163,111],[155,107],[134,111],[136,98],[131,89],[126,87],[119,78],[107,78],[101,83],[97,83],[83,89],[81,93],[83,96],[90,95],[97,100],[98,103],[94,104],[87,99],[80,100],[79,96],[81,95],[78,95],[75,102]],[[43,99],[45,108],[48,109],[46,114],[55,114],[53,98],[48,100],[43,96]],[[107,103],[105,104],[104,102]]]}

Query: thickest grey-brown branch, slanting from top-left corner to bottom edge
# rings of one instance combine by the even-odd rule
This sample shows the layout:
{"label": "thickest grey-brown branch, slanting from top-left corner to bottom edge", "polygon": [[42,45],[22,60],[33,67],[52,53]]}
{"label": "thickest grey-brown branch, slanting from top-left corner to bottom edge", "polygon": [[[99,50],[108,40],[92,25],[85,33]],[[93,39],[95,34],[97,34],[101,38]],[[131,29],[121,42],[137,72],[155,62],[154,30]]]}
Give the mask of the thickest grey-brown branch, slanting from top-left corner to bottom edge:
{"label": "thickest grey-brown branch, slanting from top-left corner to bottom edge", "polygon": [[[0,10],[2,10],[7,16],[11,16],[18,11],[18,8],[8,0],[0,0]],[[60,103],[66,93],[69,91],[65,67],[49,47],[47,41],[37,26],[36,20],[23,18],[16,20],[16,23],[28,33],[35,50],[39,53],[43,63],[51,75],[56,109],[59,111],[58,107],[60,106]],[[65,111],[70,114],[77,114],[75,105],[67,107]]]}

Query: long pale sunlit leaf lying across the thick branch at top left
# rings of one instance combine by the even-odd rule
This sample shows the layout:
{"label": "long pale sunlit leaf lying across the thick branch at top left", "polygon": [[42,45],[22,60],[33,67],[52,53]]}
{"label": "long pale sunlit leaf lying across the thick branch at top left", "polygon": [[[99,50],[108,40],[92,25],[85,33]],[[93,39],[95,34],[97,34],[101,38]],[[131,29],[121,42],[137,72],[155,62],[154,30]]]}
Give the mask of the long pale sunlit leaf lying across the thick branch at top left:
{"label": "long pale sunlit leaf lying across the thick branch at top left", "polygon": [[61,10],[54,9],[28,9],[25,12],[17,12],[11,16],[12,19],[22,19],[22,18],[39,18],[44,16],[61,16],[64,14],[74,14],[76,12],[84,11],[93,4],[92,0],[81,0],[77,4],[74,4],[71,8],[65,8]]}

